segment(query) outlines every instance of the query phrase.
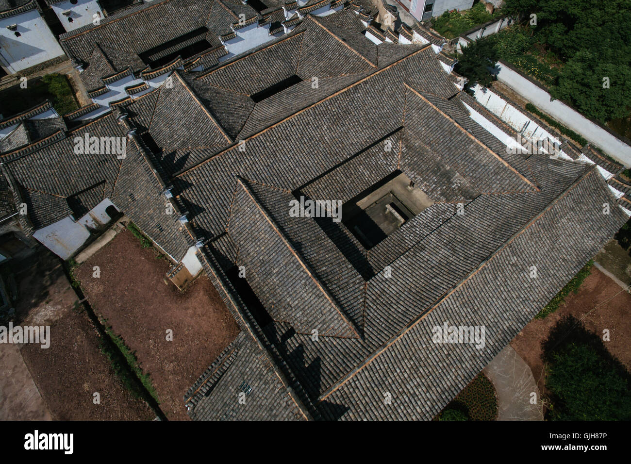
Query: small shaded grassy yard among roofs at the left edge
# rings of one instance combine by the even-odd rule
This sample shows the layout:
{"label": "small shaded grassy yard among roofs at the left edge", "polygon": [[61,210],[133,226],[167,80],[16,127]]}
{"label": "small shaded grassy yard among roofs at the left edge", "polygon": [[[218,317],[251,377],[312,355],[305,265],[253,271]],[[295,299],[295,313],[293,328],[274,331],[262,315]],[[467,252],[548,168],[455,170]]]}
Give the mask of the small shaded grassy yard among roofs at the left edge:
{"label": "small shaded grassy yard among roofs at the left edge", "polygon": [[27,80],[27,88],[14,85],[0,92],[0,112],[5,117],[23,112],[44,100],[50,100],[60,114],[78,109],[76,97],[68,78],[64,74],[46,74],[41,78]]}

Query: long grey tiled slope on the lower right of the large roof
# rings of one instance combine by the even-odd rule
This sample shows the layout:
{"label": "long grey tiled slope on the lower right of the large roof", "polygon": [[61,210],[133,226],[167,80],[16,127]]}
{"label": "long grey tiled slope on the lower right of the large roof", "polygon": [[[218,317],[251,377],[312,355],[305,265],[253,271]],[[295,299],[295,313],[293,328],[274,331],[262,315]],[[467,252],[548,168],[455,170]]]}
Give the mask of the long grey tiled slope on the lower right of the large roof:
{"label": "long grey tiled slope on the lower right of the large roof", "polygon": [[[598,172],[589,170],[444,300],[321,398],[349,405],[344,419],[432,419],[620,227],[620,211],[602,214],[603,201],[610,201],[602,187]],[[576,218],[584,216],[593,218],[587,230],[576,227]],[[533,264],[538,278],[529,277]],[[485,348],[433,343],[432,328],[445,322],[484,326]],[[386,393],[392,395],[389,404]]]}

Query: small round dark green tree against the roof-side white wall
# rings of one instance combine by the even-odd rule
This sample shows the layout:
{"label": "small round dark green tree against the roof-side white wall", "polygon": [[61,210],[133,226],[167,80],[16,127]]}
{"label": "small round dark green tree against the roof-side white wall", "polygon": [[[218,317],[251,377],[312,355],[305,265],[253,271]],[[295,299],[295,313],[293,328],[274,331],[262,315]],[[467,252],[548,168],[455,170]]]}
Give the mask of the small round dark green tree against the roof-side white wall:
{"label": "small round dark green tree against the roof-side white wall", "polygon": [[488,87],[493,81],[490,71],[497,63],[495,42],[489,37],[477,39],[464,47],[463,54],[458,57],[454,70],[468,78],[467,88],[479,83]]}

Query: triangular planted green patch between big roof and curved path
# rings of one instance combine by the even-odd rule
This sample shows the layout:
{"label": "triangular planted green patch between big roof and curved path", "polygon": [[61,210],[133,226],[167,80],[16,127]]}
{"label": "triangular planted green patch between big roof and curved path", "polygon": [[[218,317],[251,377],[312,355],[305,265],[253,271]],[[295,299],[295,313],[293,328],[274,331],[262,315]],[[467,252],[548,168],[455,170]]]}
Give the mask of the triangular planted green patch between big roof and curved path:
{"label": "triangular planted green patch between big roof and curved path", "polygon": [[481,372],[435,417],[435,420],[495,419],[497,419],[495,388],[487,376]]}

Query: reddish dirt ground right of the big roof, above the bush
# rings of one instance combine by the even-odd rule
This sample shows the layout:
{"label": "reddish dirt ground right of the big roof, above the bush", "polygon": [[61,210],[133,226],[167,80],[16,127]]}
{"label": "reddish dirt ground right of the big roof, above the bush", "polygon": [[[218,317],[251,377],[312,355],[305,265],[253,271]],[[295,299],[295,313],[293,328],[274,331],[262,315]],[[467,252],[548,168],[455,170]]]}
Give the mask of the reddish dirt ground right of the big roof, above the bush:
{"label": "reddish dirt ground right of the big roof, above the bush", "polygon": [[565,304],[545,319],[533,319],[510,342],[510,346],[532,369],[541,393],[545,393],[541,342],[548,338],[551,328],[565,314],[577,319],[585,316],[583,323],[587,330],[601,338],[603,330],[608,329],[610,341],[604,342],[604,345],[631,371],[631,345],[628,343],[631,340],[631,294],[593,267],[577,294],[570,293],[565,298]]}

